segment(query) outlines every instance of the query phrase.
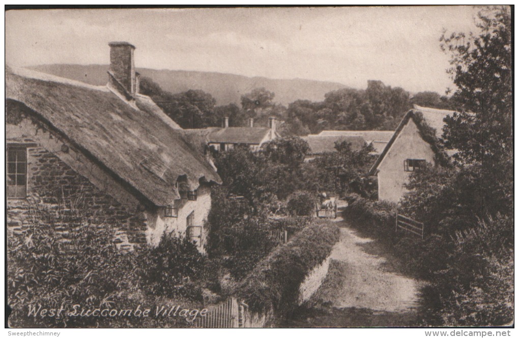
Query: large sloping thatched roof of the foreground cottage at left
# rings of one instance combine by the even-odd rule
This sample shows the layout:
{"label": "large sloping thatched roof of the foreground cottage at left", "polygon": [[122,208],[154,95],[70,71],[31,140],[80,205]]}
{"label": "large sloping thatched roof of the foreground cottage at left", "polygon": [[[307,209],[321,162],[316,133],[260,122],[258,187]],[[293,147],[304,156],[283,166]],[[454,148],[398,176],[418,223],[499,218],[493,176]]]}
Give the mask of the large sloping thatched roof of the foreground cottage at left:
{"label": "large sloping thatched roof of the foreground cottage at left", "polygon": [[180,126],[147,96],[131,103],[107,87],[6,68],[6,98],[30,108],[157,206],[179,198],[179,176],[191,189],[200,181],[221,182]]}

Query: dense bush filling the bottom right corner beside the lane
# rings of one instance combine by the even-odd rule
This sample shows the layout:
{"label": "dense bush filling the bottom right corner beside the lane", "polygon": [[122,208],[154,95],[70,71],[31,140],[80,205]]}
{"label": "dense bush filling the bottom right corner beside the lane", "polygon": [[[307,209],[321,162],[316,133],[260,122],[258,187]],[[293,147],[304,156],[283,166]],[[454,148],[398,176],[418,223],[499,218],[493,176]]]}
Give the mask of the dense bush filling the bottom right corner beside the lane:
{"label": "dense bush filling the bottom right corner beside the lane", "polygon": [[446,294],[445,325],[503,326],[513,320],[513,220],[498,215],[458,232],[434,287]]}

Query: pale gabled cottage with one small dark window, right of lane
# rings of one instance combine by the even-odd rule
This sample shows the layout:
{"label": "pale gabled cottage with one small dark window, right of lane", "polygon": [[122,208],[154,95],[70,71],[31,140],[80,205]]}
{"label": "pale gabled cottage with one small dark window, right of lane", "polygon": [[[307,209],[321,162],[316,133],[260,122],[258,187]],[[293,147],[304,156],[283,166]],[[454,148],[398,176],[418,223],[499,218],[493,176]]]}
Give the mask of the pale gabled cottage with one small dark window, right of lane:
{"label": "pale gabled cottage with one small dark window, right of lane", "polygon": [[369,172],[377,176],[379,200],[398,202],[407,191],[404,184],[409,175],[426,163],[435,163],[431,140],[422,134],[428,126],[435,131],[435,137],[441,137],[443,120],[453,112],[416,105],[407,112]]}

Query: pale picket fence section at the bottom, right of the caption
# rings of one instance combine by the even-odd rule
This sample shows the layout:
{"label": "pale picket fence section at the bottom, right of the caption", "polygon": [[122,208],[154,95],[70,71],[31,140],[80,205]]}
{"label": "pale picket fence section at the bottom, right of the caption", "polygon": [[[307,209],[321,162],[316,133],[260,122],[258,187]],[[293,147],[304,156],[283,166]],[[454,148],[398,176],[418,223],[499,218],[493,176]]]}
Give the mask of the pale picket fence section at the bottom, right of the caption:
{"label": "pale picket fence section at the bottom, right of the caption", "polygon": [[195,320],[197,328],[237,328],[238,302],[231,297],[223,303],[208,307],[206,316]]}

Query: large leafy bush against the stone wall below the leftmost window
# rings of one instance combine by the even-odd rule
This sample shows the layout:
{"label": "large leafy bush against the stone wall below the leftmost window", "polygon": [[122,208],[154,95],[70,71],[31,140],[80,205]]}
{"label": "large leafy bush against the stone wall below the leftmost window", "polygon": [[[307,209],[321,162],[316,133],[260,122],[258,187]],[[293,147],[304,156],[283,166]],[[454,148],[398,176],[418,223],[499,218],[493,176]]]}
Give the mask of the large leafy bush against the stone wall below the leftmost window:
{"label": "large leafy bush against the stone wall below the leftmost window", "polygon": [[[74,213],[74,210],[72,210]],[[59,210],[35,205],[34,222],[23,233],[9,235],[8,304],[10,325],[17,327],[88,327],[99,325],[92,317],[33,317],[29,307],[71,308],[110,306],[121,290],[138,287],[138,266],[133,254],[117,249],[113,229],[78,223],[76,216],[59,217]],[[56,231],[58,221],[61,232]],[[65,238],[65,240],[62,240]]]}

